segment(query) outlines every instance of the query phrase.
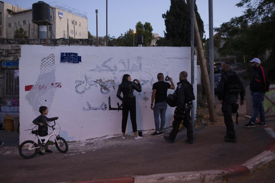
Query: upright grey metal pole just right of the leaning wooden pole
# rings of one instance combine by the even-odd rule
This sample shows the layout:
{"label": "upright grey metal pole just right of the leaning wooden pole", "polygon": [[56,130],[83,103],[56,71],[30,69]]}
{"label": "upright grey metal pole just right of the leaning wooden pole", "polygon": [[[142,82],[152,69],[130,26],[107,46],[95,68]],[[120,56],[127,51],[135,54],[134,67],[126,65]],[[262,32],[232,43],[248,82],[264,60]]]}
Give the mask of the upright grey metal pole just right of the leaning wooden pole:
{"label": "upright grey metal pole just right of the leaning wooden pole", "polygon": [[214,94],[214,43],[213,43],[213,0],[208,0],[209,12],[209,72],[210,72],[210,85],[212,91],[213,103],[215,102]]}

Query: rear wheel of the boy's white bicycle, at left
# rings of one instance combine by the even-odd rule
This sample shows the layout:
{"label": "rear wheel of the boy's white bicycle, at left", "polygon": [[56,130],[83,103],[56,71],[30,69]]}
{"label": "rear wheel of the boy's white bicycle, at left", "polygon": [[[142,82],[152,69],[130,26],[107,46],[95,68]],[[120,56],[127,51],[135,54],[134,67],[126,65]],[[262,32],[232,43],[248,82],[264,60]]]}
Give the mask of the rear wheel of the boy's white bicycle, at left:
{"label": "rear wheel of the boy's white bicycle, at left", "polygon": [[32,140],[26,140],[19,146],[19,154],[23,158],[33,158],[37,154],[37,148],[28,150],[28,148],[35,148],[37,144]]}

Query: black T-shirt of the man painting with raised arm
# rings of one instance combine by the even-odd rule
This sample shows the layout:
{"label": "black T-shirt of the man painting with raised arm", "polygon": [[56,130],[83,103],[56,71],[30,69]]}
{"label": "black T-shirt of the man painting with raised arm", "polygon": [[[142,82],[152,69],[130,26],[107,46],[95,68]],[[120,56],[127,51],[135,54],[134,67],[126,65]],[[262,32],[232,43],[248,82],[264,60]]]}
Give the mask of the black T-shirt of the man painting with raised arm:
{"label": "black T-shirt of the man painting with raised arm", "polygon": [[155,104],[167,100],[167,89],[171,85],[165,81],[158,81],[153,84],[153,89],[156,89]]}

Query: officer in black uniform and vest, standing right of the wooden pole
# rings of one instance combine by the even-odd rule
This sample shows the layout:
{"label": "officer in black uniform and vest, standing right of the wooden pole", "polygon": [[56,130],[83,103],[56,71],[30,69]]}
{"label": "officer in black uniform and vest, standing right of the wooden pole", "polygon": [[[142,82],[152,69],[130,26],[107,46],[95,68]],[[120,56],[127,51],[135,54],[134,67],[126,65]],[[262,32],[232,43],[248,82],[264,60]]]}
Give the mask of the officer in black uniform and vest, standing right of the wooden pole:
{"label": "officer in black uniform and vest, standing right of the wooden pole", "polygon": [[238,93],[240,93],[240,105],[243,105],[245,90],[239,77],[230,69],[230,64],[224,62],[221,64],[221,77],[217,85],[218,99],[222,103],[221,111],[223,112],[224,123],[226,126],[226,135],[224,142],[237,142],[234,124],[232,120],[232,110],[239,107],[237,102]]}

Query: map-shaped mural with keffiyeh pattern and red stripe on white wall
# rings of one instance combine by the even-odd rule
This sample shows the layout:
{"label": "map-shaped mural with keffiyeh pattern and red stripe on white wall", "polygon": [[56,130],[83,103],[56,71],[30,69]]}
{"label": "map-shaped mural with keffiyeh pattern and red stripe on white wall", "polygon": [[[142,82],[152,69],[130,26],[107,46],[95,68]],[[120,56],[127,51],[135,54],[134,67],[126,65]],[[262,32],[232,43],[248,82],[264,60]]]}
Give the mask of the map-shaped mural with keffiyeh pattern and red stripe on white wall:
{"label": "map-shaped mural with keffiyeh pattern and red stripe on white wall", "polygon": [[61,83],[55,82],[54,54],[41,60],[40,75],[35,85],[25,86],[25,91],[30,91],[26,99],[32,105],[34,111],[39,112],[40,106],[50,109],[54,99],[55,89],[61,87]]}

